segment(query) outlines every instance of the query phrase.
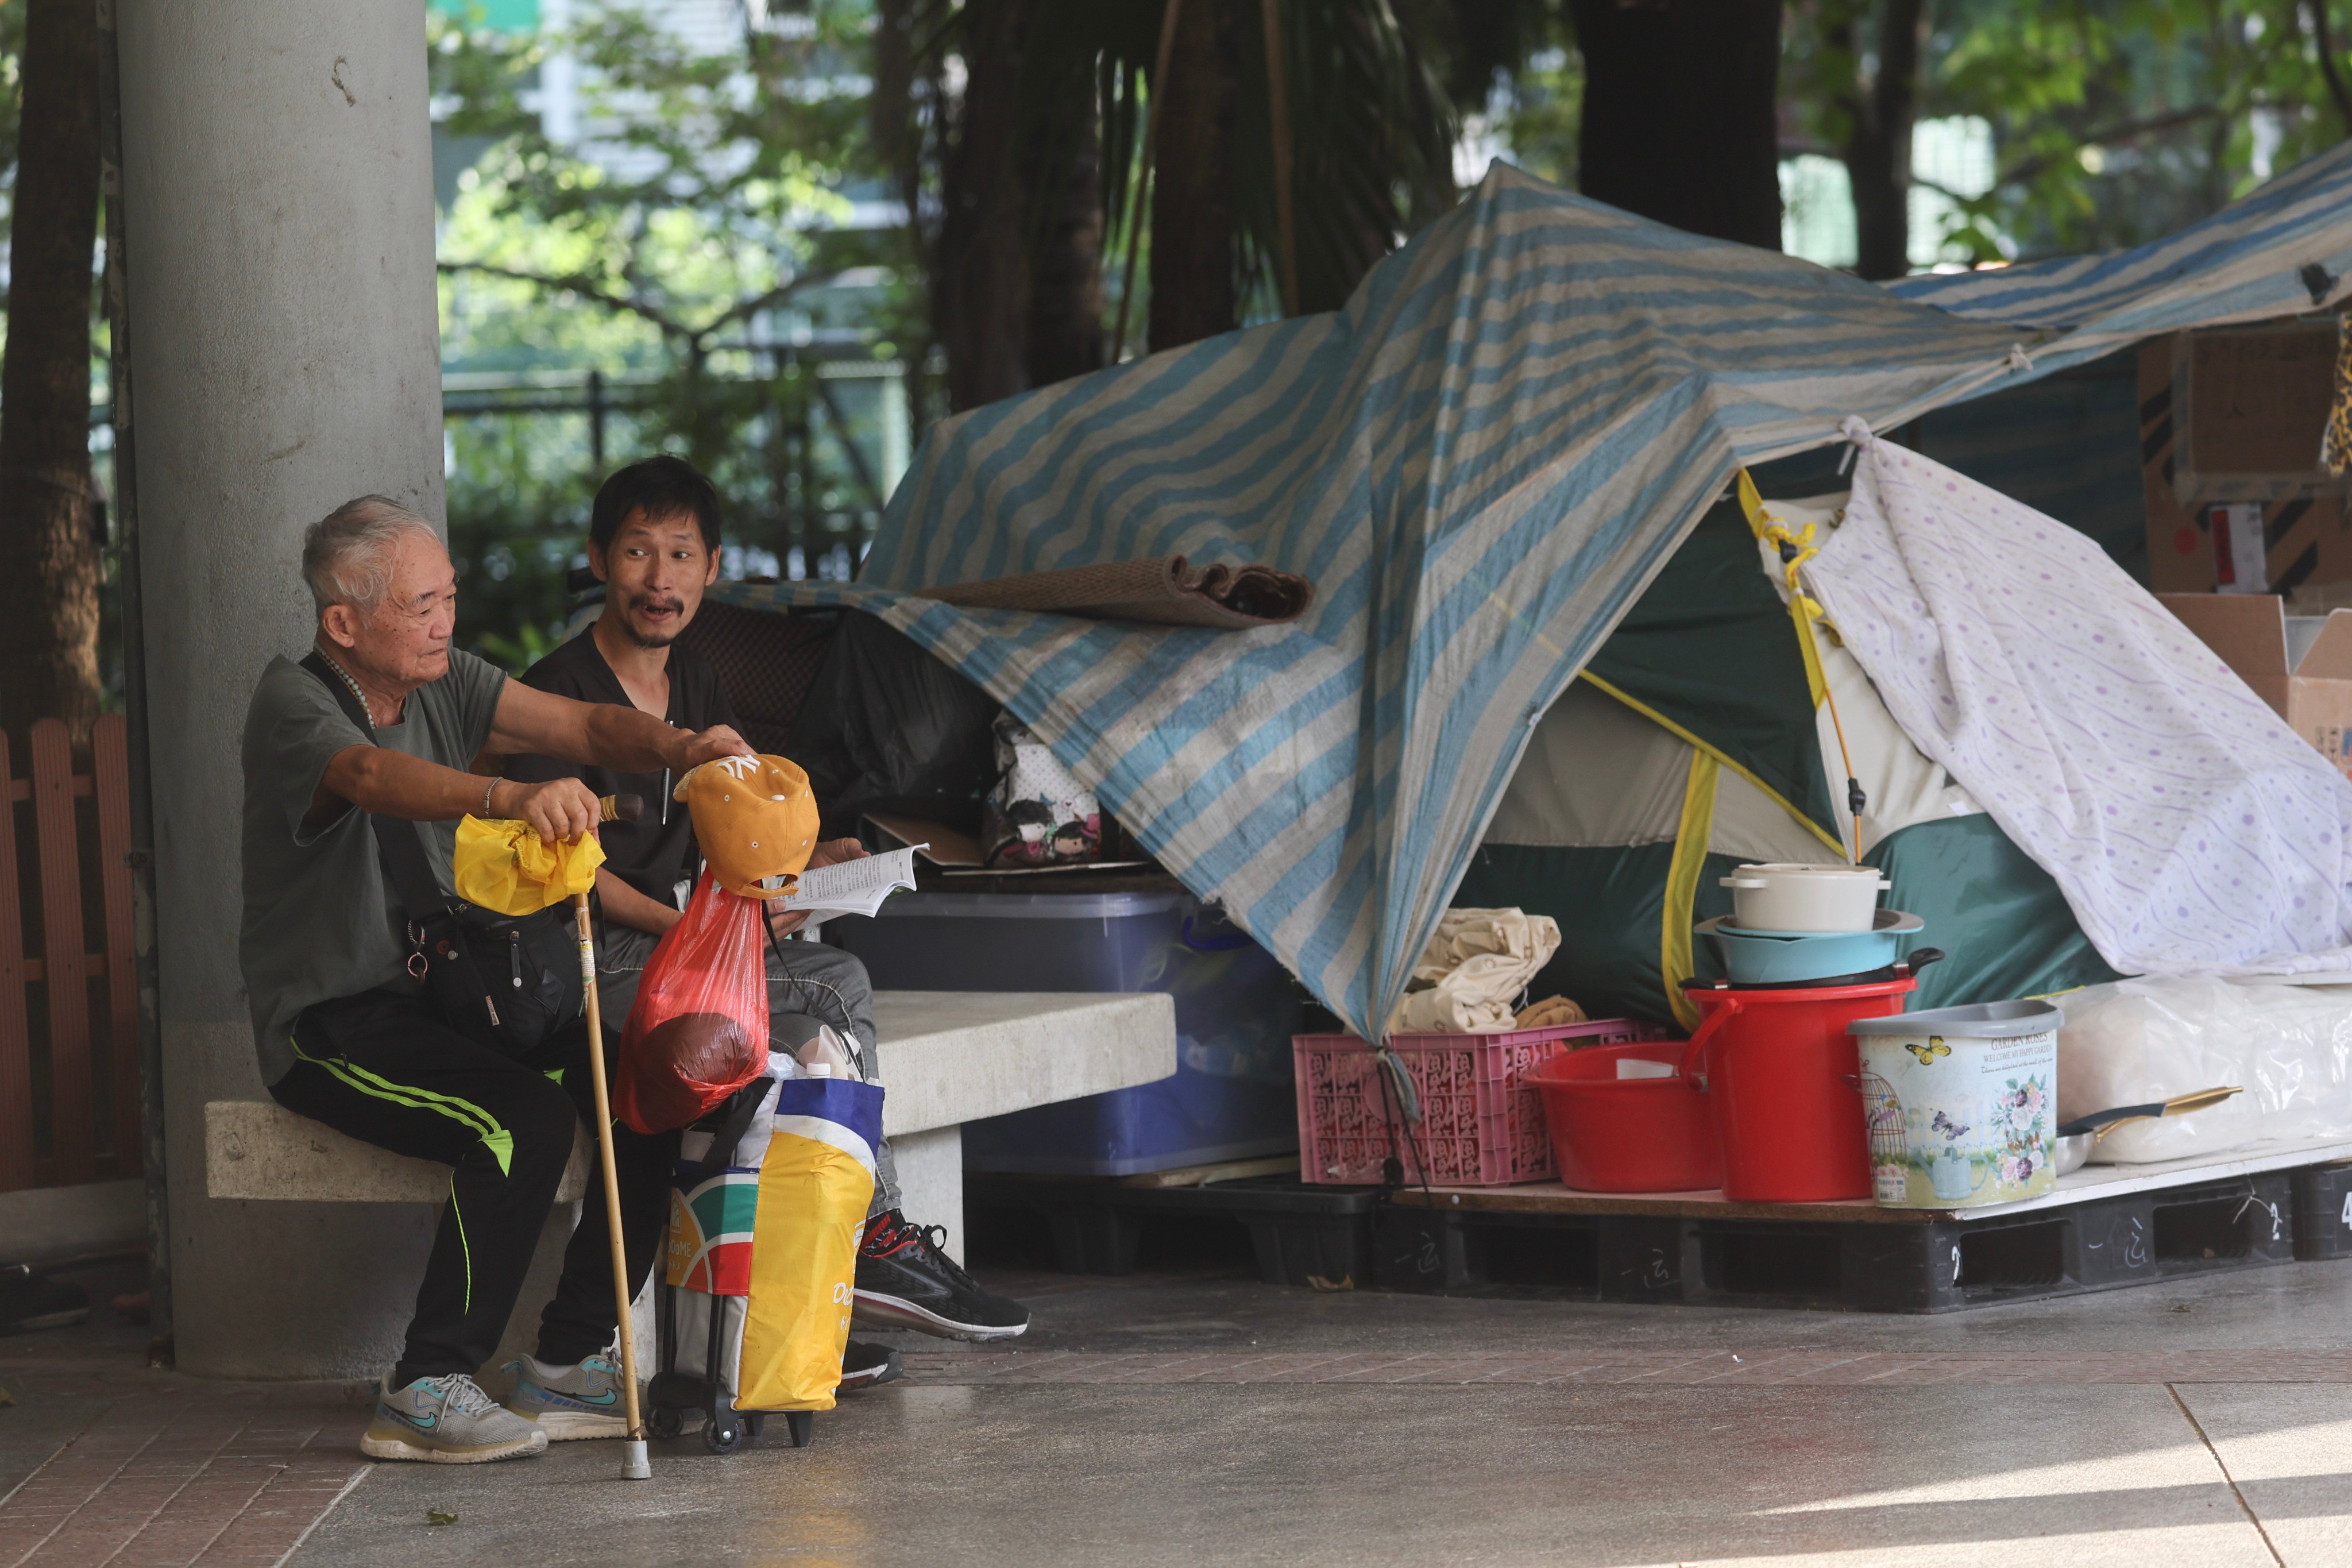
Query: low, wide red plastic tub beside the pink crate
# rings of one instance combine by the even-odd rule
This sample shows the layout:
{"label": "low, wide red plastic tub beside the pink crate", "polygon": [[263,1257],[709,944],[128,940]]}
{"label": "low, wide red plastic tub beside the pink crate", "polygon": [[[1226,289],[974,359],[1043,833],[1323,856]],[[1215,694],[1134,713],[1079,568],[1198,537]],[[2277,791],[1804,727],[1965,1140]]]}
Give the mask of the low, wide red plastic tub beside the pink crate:
{"label": "low, wide red plastic tub beside the pink crate", "polygon": [[1686,1077],[1621,1079],[1618,1060],[1672,1065],[1682,1044],[1585,1046],[1519,1077],[1543,1095],[1559,1180],[1581,1192],[1705,1192],[1724,1180],[1708,1098]]}

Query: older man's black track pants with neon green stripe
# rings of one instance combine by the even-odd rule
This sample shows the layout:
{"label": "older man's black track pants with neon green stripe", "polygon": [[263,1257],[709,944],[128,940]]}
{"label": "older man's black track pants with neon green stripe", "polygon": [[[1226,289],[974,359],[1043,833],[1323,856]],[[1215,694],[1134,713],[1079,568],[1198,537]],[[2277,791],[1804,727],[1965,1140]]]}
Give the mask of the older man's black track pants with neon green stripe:
{"label": "older man's black track pants with neon green stripe", "polygon": [[[572,1131],[593,1117],[586,1041],[586,1025],[574,1025],[527,1058],[508,1058],[397,992],[320,1001],[294,1020],[296,1063],[270,1084],[280,1105],[360,1143],[454,1166],[393,1387],[475,1373],[499,1347],[572,1157]],[[675,1133],[614,1128],[630,1295],[652,1269],[675,1143]],[[612,1244],[604,1204],[590,1201],[541,1319],[539,1356],[579,1361],[612,1333]]]}

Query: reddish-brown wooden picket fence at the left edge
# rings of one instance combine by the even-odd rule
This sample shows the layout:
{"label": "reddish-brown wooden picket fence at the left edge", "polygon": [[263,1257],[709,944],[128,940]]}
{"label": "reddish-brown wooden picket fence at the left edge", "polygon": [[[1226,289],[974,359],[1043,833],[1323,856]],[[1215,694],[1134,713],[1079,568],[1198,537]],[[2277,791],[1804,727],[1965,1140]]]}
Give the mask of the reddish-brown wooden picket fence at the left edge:
{"label": "reddish-brown wooden picket fence at the left edge", "polygon": [[[73,771],[66,726],[33,726],[31,776],[0,736],[0,1192],[139,1175],[139,992],[132,961],[132,776],[122,715],[89,736]],[[82,811],[78,802],[92,802]],[[21,867],[31,806],[40,952],[26,952]],[[85,860],[99,922],[82,905]],[[101,950],[92,952],[89,940]]]}

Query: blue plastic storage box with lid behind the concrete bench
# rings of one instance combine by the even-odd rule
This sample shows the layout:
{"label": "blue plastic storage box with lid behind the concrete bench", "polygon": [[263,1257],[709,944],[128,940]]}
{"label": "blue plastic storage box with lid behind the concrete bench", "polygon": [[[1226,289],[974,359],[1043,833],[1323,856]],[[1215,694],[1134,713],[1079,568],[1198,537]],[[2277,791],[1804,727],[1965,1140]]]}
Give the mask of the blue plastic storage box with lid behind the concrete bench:
{"label": "blue plastic storage box with lid behind the concrete bench", "polygon": [[[875,990],[1176,997],[1176,1077],[964,1124],[967,1171],[1136,1175],[1298,1147],[1301,990],[1190,893],[898,893],[828,924]],[[889,1041],[882,1041],[884,1081]]]}

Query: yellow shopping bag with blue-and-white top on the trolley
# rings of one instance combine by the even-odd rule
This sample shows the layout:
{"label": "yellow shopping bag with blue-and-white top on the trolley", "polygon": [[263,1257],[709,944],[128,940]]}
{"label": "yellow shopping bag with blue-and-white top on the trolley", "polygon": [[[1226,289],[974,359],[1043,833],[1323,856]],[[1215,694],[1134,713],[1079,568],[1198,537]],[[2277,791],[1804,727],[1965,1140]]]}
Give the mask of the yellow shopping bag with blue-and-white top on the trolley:
{"label": "yellow shopping bag with blue-and-white top on the trolley", "polygon": [[771,1126],[750,1232],[736,1408],[830,1410],[875,1192],[882,1088],[786,1079],[776,1084]]}

